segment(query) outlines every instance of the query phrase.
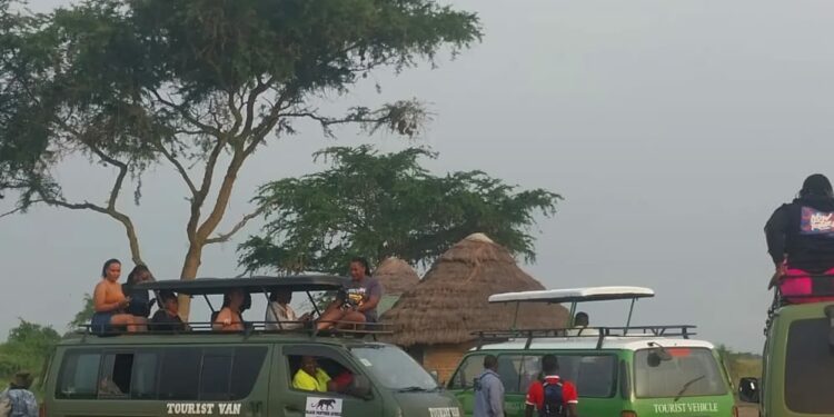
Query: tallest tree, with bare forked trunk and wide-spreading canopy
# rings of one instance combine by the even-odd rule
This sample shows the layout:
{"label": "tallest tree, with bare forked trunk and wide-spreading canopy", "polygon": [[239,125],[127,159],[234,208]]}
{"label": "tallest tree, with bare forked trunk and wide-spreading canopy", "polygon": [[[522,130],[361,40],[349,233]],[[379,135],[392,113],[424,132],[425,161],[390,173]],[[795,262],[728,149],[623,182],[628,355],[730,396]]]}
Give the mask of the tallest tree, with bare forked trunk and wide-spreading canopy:
{"label": "tallest tree, with bare forked trunk and wide-spreading canopy", "polygon": [[[120,197],[135,183],[138,203],[141,173],[167,163],[188,198],[183,279],[207,245],[257,216],[218,232],[238,173],[269,138],[300,119],[327,135],[355,123],[411,137],[426,118],[417,101],[339,116],[314,103],[480,36],[474,14],[434,0],[87,0],[48,14],[10,1],[0,0],[0,190],[14,190],[19,211],[44,203],[115,219],[143,264]],[[103,201],[62,192],[54,168],[78,156],[112,172]]]}

